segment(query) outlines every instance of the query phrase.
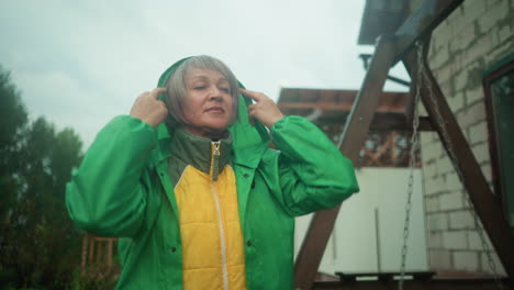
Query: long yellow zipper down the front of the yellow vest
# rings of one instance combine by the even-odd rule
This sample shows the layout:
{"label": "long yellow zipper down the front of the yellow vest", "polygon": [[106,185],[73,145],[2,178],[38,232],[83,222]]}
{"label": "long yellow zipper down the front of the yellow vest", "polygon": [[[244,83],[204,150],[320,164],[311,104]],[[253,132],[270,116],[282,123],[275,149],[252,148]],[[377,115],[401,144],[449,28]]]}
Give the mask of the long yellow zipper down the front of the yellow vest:
{"label": "long yellow zipper down the front of the yellow vest", "polygon": [[222,250],[222,271],[223,271],[223,289],[228,290],[228,270],[226,266],[226,241],[225,241],[225,228],[223,226],[223,215],[221,210],[221,202],[220,198],[216,193],[216,180],[217,174],[220,169],[220,146],[221,142],[212,142],[212,157],[211,157],[211,189],[212,196],[214,197],[214,202],[216,204],[216,212],[217,212],[217,221],[220,225],[220,243],[221,243],[221,250]]}

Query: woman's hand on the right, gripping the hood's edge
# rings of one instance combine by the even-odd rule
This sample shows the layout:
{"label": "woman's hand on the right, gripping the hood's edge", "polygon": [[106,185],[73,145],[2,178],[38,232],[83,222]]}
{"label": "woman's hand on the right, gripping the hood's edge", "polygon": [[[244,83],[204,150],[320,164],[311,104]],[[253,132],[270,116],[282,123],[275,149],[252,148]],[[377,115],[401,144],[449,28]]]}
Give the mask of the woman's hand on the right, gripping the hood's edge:
{"label": "woman's hand on the right, gripping the hood's edge", "polygon": [[275,122],[283,118],[282,112],[268,96],[262,92],[239,89],[241,93],[250,98],[255,103],[248,105],[248,116],[260,121],[265,126],[271,127]]}

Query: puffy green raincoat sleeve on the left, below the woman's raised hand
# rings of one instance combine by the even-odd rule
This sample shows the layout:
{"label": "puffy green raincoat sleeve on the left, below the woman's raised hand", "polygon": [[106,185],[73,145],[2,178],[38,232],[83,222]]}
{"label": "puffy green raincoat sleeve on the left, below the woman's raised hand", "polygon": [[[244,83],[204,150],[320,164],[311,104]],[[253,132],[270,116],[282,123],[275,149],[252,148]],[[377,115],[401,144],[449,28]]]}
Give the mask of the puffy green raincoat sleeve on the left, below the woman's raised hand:
{"label": "puffy green raincoat sleeve on the left, below the woman's raised hand", "polygon": [[66,188],[66,205],[78,227],[99,236],[133,236],[145,219],[142,182],[154,127],[128,115],[113,119],[97,135]]}

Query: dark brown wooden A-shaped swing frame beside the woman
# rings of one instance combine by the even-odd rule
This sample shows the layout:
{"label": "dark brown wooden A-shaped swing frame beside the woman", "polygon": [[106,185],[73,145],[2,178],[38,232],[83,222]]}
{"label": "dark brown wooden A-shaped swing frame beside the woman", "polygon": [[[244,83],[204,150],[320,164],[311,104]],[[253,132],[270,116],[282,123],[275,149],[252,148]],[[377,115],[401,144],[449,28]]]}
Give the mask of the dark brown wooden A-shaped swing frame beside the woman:
{"label": "dark brown wooden A-shaped swing frame beside the woman", "polygon": [[[402,60],[411,75],[411,79],[415,82],[417,58],[414,43],[421,41],[424,47],[428,47],[431,34],[434,29],[459,7],[462,1],[463,0],[425,0],[422,7],[405,20],[394,35],[382,35],[379,38],[371,64],[353,104],[350,115],[348,116],[342,135],[343,141],[340,143],[340,149],[354,163],[358,158],[359,149],[369,131],[373,114],[378,109],[379,96],[381,94],[389,69],[395,63]],[[425,67],[428,68],[426,54],[424,63]],[[454,166],[462,172],[463,186],[500,257],[500,261],[505,268],[507,279],[502,279],[502,282],[514,288],[514,237],[506,220],[502,215],[501,204],[498,197],[491,191],[431,69],[426,69],[426,75],[429,83],[428,86],[426,82],[422,85],[421,100],[428,113],[428,119],[431,120],[433,129],[438,133],[446,152],[449,152],[448,146],[451,146],[450,144],[454,144],[455,147],[458,148],[458,150],[451,149],[457,157],[457,164],[454,164]],[[437,122],[437,109],[433,105],[429,97],[431,88],[434,98],[437,100],[439,107],[438,111],[445,120],[443,124]],[[410,104],[405,110],[407,120],[412,120],[413,116],[415,105],[413,99],[414,98],[410,98]],[[448,132],[449,141],[443,137],[443,132]],[[340,205],[335,209],[319,211],[314,214],[294,265],[295,289],[313,288],[314,279],[329,235],[334,228],[339,208]],[[494,286],[495,282],[493,279],[473,280],[472,282],[456,280],[405,281],[405,287],[409,289],[489,289]],[[349,289],[348,286],[340,282],[316,282],[314,288]],[[358,286],[356,283],[351,289],[391,289],[391,285],[375,281],[367,286]]]}

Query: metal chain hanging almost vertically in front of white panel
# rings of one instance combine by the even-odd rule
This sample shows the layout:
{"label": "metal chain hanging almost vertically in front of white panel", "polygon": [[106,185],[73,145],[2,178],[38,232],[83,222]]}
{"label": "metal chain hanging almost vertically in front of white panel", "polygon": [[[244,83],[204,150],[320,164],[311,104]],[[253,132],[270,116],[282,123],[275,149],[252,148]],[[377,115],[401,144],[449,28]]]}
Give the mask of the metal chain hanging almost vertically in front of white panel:
{"label": "metal chain hanging almost vertically in front of white panel", "polygon": [[[417,60],[423,60],[423,47],[417,45]],[[407,183],[407,198],[405,204],[405,222],[403,224],[403,246],[402,246],[402,263],[400,266],[400,280],[398,285],[398,289],[403,290],[403,281],[405,279],[405,264],[406,264],[406,254],[407,254],[407,238],[409,238],[409,225],[411,220],[411,209],[412,209],[412,192],[414,191],[414,166],[415,166],[415,153],[420,146],[420,138],[417,135],[417,127],[420,125],[420,110],[417,110],[417,103],[420,102],[421,98],[421,85],[422,85],[422,66],[417,66],[417,83],[416,83],[416,92],[414,94],[414,119],[412,124],[412,135],[411,135],[411,150],[409,156],[409,183]]]}

